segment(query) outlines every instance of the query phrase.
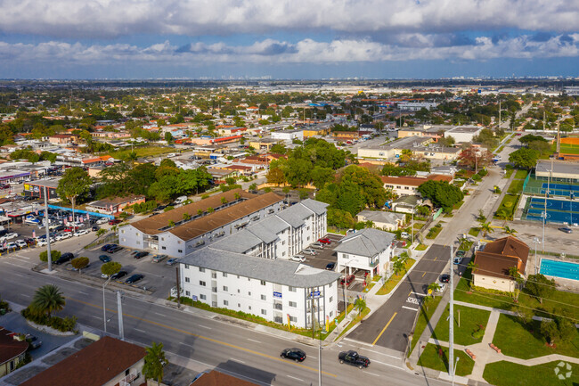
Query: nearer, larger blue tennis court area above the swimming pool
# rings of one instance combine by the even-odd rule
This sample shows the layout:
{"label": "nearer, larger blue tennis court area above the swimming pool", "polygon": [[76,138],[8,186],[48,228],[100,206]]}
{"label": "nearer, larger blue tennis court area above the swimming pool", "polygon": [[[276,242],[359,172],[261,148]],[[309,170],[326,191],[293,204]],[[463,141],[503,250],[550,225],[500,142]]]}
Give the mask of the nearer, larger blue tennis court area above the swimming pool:
{"label": "nearer, larger blue tennis court area above the swimming pool", "polygon": [[[525,215],[527,220],[542,221],[545,212],[545,199],[529,197],[526,201]],[[547,223],[579,224],[579,202],[547,199]]]}

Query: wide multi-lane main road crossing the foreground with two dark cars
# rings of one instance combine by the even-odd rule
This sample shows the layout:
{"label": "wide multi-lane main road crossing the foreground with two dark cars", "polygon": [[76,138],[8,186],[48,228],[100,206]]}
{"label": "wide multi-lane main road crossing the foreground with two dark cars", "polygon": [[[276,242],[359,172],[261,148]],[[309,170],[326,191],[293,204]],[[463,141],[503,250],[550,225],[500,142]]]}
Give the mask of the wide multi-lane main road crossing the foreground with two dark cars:
{"label": "wide multi-lane main road crossing the foreground with two dark cars", "polygon": [[[29,262],[30,264],[30,262]],[[78,323],[102,329],[102,289],[64,280],[53,275],[19,267],[9,259],[0,259],[0,293],[5,300],[27,305],[34,291],[46,283],[54,283],[64,292],[67,304],[62,315],[78,317]],[[223,316],[198,315],[174,308],[135,299],[126,293],[123,299],[124,331],[126,339],[143,345],[151,341],[163,342],[169,357],[182,357],[197,371],[216,368],[236,374],[259,384],[296,385],[318,382],[318,348],[290,340],[282,333],[269,333],[255,325],[230,322]],[[118,333],[116,295],[106,292],[108,332]],[[2,316],[0,316],[2,324]],[[296,337],[294,337],[296,338]],[[307,354],[298,364],[279,357],[281,349],[298,347]],[[443,385],[446,382],[427,379],[409,373],[400,363],[368,348],[359,352],[371,358],[368,369],[359,370],[338,364],[338,352],[358,349],[355,345],[330,345],[322,350],[322,383],[377,382],[387,377],[392,385]]]}

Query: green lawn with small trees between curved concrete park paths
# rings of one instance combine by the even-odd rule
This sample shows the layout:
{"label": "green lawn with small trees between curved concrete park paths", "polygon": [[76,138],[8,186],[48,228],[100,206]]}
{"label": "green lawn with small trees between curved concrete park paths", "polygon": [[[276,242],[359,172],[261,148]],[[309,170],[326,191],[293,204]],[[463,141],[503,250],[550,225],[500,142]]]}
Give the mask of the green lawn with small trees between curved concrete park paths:
{"label": "green lawn with small trees between curved concrete park paths", "polygon": [[545,345],[545,339],[540,333],[541,322],[534,320],[528,325],[522,325],[515,316],[501,315],[494,333],[493,343],[502,350],[504,355],[530,359],[550,354],[561,354],[569,357],[579,357],[579,333],[567,341],[555,340],[557,348],[551,349]]}

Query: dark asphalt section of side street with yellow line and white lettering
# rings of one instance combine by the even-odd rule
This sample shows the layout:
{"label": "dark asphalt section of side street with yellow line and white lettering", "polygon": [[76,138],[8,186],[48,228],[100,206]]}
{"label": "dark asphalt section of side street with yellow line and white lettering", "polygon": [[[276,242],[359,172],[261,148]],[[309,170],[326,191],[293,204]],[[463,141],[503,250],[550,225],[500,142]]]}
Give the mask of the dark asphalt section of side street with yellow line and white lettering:
{"label": "dark asphalt section of side street with yellow line and white lettering", "polygon": [[450,247],[431,246],[390,299],[348,334],[348,339],[404,352],[428,284],[438,280],[449,259]]}

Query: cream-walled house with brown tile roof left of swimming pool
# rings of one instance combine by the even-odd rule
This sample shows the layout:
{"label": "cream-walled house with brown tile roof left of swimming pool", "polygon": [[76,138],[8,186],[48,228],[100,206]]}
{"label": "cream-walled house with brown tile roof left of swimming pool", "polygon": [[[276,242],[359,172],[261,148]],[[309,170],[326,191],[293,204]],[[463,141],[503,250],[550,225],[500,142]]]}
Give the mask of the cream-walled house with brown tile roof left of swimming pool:
{"label": "cream-walled house with brown tile roof left of swimming pool", "polygon": [[513,292],[516,280],[509,275],[511,267],[517,267],[518,273],[525,276],[529,247],[513,236],[489,242],[483,250],[475,253],[475,269],[472,272],[472,283],[477,287],[491,290]]}

